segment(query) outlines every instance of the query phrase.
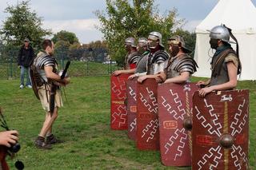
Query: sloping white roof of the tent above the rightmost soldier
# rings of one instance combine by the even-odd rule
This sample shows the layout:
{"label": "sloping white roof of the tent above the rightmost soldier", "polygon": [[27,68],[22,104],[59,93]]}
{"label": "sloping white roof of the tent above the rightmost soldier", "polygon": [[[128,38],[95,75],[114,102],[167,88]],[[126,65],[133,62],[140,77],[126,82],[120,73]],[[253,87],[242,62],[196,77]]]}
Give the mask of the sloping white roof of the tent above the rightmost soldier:
{"label": "sloping white roof of the tent above the rightmost soldier", "polygon": [[250,0],[219,0],[197,26],[196,33],[206,33],[214,26],[226,24],[235,34],[256,34],[256,9]]}

